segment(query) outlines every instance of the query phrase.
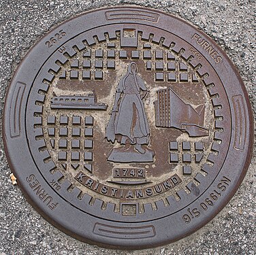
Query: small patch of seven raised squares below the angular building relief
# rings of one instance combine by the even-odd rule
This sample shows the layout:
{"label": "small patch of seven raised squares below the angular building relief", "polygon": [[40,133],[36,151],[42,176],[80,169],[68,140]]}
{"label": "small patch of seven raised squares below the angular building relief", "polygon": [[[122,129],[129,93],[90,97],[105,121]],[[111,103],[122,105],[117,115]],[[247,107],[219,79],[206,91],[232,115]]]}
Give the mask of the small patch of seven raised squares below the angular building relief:
{"label": "small patch of seven raised squares below the angular building relief", "polygon": [[[194,146],[195,154],[191,152],[191,146]],[[178,150],[181,148],[182,150]],[[182,163],[183,174],[189,175],[192,173],[191,163],[195,160],[195,163],[199,164],[204,154],[204,143],[196,141],[191,143],[190,141],[182,141],[178,144],[177,141],[170,141],[169,143],[169,160],[172,163]],[[181,152],[181,153],[180,153]]]}

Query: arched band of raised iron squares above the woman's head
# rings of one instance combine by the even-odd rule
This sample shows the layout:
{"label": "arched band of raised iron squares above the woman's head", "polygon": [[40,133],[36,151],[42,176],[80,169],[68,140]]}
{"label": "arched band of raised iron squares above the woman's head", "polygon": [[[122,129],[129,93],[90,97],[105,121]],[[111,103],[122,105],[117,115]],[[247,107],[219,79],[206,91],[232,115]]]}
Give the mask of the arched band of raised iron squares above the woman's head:
{"label": "arched band of raised iron squares above the woman's head", "polygon": [[198,82],[195,73],[178,60],[171,52],[153,50],[150,44],[144,44],[142,50],[118,50],[110,43],[106,50],[88,50],[83,60],[74,60],[71,71],[63,71],[60,80],[103,80],[104,71],[116,69],[116,60],[142,60],[146,71],[154,71],[156,82]]}

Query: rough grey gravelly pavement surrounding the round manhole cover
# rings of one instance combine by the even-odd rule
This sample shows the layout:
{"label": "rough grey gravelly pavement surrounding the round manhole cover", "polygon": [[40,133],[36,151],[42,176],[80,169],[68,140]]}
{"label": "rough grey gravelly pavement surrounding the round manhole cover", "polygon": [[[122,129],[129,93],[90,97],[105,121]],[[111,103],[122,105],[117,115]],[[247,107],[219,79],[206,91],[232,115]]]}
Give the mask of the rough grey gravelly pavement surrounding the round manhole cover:
{"label": "rough grey gravelly pavement surrounding the round manhole cover", "polygon": [[[5,92],[29,49],[53,27],[97,7],[137,4],[174,14],[199,27],[236,65],[256,114],[255,1],[3,1],[0,0],[0,123]],[[253,86],[254,85],[254,86]],[[0,131],[1,132],[1,131]],[[253,157],[242,185],[228,205],[193,235],[141,251],[98,248],[54,228],[10,181],[0,133],[0,254],[255,254],[255,168]],[[255,154],[255,153],[254,153]]]}

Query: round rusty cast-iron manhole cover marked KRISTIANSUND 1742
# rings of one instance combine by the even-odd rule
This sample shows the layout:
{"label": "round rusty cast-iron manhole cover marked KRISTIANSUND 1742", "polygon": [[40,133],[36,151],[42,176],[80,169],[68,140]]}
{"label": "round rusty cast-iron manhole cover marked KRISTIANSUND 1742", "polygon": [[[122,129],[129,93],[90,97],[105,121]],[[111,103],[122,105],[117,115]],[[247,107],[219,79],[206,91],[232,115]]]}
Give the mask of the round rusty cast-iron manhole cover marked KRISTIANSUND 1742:
{"label": "round rusty cast-iron manhole cover marked KRISTIANSUND 1742", "polygon": [[141,7],[87,12],[31,49],[5,101],[18,186],[54,226],[110,248],[189,235],[249,165],[237,71],[190,24]]}

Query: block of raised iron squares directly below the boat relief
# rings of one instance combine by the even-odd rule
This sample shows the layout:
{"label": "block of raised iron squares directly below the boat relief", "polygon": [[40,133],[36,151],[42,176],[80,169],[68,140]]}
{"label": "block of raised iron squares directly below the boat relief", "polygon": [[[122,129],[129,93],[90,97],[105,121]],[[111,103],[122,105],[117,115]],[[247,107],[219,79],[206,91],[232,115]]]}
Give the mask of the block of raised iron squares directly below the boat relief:
{"label": "block of raised iron squares directly below the boat relief", "polygon": [[48,116],[47,130],[58,160],[66,168],[77,169],[80,165],[88,171],[93,169],[93,117]]}

